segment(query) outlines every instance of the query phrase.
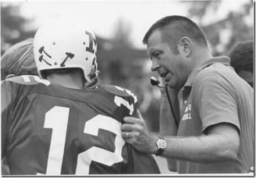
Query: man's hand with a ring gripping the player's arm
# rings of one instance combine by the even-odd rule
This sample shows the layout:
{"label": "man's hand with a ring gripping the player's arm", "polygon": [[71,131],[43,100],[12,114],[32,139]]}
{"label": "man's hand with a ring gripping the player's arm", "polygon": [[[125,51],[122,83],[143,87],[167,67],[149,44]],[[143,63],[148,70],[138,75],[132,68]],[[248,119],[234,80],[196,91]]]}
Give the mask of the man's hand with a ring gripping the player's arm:
{"label": "man's hand with a ring gripping the player's arm", "polygon": [[158,136],[149,133],[139,110],[137,114],[139,118],[125,117],[123,119],[126,124],[122,124],[122,138],[140,152],[156,153]]}

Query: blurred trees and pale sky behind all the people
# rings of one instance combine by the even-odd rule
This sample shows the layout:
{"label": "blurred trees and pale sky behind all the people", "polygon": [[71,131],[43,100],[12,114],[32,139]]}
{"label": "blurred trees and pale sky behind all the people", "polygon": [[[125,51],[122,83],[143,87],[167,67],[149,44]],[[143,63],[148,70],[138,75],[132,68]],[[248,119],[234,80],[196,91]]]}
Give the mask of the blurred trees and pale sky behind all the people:
{"label": "blurred trees and pale sky behind all the people", "polygon": [[142,44],[158,19],[183,15],[197,22],[213,56],[238,42],[253,40],[253,0],[222,1],[1,1],[1,56],[11,45],[33,38],[38,26],[55,16],[74,16],[94,31],[100,82],[138,95],[139,109],[151,131],[159,130],[161,93],[151,86],[151,61]]}

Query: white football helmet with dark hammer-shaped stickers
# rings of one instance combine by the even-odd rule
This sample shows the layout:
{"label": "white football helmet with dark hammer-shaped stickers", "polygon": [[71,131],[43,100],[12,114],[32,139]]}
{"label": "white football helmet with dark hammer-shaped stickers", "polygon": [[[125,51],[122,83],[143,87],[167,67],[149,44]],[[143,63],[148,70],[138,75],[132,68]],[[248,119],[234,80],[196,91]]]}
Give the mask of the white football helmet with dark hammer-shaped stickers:
{"label": "white football helmet with dark hammer-shaped stickers", "polygon": [[39,76],[52,69],[80,68],[91,82],[98,76],[94,33],[67,19],[46,22],[34,36],[34,58]]}

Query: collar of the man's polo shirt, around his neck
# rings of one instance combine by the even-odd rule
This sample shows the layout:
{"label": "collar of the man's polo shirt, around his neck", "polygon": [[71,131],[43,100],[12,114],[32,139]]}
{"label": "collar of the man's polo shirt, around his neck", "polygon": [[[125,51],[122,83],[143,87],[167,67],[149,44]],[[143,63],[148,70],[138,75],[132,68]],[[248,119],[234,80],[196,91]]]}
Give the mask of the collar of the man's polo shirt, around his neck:
{"label": "collar of the man's polo shirt, around his neck", "polygon": [[210,59],[204,61],[203,63],[201,63],[201,65],[196,67],[196,69],[194,69],[191,72],[191,74],[188,76],[188,79],[187,79],[184,87],[186,87],[186,86],[190,86],[191,87],[192,83],[193,83],[193,80],[195,79],[195,76],[198,74],[198,72],[200,72],[206,66],[211,65],[212,63],[223,63],[224,65],[229,65],[230,58],[227,57],[227,56],[219,56],[219,57],[213,57],[213,58],[210,58]]}

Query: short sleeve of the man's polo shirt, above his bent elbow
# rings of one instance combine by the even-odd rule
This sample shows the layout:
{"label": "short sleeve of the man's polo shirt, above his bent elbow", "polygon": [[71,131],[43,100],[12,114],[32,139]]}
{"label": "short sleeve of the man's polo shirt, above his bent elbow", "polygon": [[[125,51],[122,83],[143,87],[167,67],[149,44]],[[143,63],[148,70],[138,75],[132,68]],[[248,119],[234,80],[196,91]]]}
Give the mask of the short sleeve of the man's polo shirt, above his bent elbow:
{"label": "short sleeve of the man's polo shirt, above his bent elbow", "polygon": [[196,106],[202,121],[202,131],[222,122],[240,130],[236,96],[232,86],[221,76],[208,77],[198,85]]}

